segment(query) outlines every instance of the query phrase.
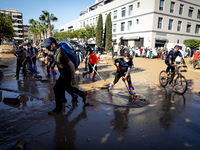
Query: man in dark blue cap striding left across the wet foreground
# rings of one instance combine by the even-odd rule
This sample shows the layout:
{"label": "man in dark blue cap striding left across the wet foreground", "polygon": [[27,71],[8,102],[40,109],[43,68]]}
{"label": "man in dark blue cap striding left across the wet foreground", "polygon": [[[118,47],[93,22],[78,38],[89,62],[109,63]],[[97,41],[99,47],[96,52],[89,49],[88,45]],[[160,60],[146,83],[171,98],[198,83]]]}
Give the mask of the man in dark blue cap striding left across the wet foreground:
{"label": "man in dark blue cap striding left across the wet foreground", "polygon": [[63,90],[66,90],[69,94],[78,94],[80,97],[83,98],[83,102],[85,103],[87,92],[80,91],[78,88],[72,86],[76,84],[75,67],[65,50],[62,49],[62,47],[52,37],[47,38],[44,41],[43,46],[49,51],[54,52],[54,54],[57,54],[55,61],[57,62],[57,67],[60,72],[60,77],[56,81],[56,84],[54,86],[56,108],[48,112],[48,114],[53,115],[62,113]]}

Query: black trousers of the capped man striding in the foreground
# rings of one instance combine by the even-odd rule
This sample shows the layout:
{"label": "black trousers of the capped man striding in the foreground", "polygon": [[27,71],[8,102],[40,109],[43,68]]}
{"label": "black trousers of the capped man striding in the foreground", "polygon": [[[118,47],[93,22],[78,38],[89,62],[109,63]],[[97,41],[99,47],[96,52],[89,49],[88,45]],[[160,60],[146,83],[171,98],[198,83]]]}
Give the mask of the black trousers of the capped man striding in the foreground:
{"label": "black trousers of the capped man striding in the foreground", "polygon": [[63,90],[67,91],[69,94],[75,93],[81,97],[84,96],[83,91],[80,91],[78,88],[71,85],[71,72],[65,71],[64,73],[61,73],[54,86],[56,109],[58,111],[62,111]]}

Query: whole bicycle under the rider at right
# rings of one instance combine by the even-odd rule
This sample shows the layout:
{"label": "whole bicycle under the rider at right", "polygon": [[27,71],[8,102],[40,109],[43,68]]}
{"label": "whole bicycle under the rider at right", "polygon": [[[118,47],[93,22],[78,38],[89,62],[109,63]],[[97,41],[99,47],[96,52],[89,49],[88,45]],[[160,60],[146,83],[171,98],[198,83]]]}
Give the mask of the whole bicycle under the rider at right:
{"label": "whole bicycle under the rider at right", "polygon": [[187,66],[178,66],[175,65],[175,73],[173,74],[171,71],[166,73],[165,70],[162,70],[159,74],[159,82],[162,87],[165,87],[168,83],[171,86],[174,86],[174,90],[178,94],[184,94],[188,88],[188,83],[186,78],[180,73],[180,68]]}

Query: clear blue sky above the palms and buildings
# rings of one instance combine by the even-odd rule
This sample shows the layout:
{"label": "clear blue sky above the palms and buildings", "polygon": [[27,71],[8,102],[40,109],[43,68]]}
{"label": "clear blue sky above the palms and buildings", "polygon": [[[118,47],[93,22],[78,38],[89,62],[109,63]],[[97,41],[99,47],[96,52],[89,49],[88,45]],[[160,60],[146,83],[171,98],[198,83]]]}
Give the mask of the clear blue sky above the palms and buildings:
{"label": "clear blue sky above the palms and buildings", "polygon": [[[99,0],[100,1],[100,0]],[[0,10],[17,9],[23,13],[23,24],[29,25],[29,19],[39,21],[42,10],[48,10],[58,18],[52,22],[55,29],[79,17],[79,12],[91,6],[95,0],[0,0]]]}

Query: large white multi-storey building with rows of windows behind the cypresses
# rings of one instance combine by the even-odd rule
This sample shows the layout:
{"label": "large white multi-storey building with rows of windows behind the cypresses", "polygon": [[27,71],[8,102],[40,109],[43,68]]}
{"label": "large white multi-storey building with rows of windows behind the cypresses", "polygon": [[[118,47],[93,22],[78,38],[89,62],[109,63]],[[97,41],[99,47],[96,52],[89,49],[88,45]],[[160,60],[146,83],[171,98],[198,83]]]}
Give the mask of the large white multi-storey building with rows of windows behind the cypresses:
{"label": "large white multi-storey building with rows of windows behind the cypresses", "polygon": [[108,13],[113,24],[113,41],[137,47],[182,44],[200,40],[199,0],[102,0],[79,13],[79,18],[60,27],[74,30],[96,25],[99,14],[105,23]]}

